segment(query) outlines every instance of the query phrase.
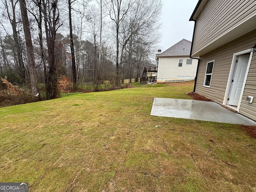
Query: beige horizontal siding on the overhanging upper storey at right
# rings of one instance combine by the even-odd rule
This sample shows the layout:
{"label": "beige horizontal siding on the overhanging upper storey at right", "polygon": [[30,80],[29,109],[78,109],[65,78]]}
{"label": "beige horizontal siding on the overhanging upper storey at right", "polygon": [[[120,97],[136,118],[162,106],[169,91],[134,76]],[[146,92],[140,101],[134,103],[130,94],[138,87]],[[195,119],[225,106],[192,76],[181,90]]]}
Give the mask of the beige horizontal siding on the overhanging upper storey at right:
{"label": "beige horizontal siding on the overhanging upper storey at right", "polygon": [[255,0],[209,0],[196,19],[192,55],[255,13]]}

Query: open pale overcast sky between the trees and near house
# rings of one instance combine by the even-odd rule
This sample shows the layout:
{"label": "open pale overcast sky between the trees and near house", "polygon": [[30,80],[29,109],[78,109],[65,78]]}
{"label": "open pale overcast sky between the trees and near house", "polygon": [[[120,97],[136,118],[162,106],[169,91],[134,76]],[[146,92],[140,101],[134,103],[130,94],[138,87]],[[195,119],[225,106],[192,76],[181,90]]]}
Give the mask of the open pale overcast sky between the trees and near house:
{"label": "open pale overcast sky between the trees and near house", "polygon": [[162,52],[182,39],[192,41],[194,22],[189,21],[198,0],[162,0]]}

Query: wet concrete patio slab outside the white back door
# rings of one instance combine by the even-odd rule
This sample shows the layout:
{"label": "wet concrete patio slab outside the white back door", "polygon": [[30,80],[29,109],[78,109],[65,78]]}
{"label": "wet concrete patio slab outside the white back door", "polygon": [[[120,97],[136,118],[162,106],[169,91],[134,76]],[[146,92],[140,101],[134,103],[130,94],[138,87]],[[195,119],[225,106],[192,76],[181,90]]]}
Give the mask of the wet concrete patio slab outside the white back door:
{"label": "wet concrete patio slab outside the white back door", "polygon": [[231,112],[216,102],[209,101],[154,98],[150,115],[231,124],[256,125],[255,121],[250,120],[241,114]]}

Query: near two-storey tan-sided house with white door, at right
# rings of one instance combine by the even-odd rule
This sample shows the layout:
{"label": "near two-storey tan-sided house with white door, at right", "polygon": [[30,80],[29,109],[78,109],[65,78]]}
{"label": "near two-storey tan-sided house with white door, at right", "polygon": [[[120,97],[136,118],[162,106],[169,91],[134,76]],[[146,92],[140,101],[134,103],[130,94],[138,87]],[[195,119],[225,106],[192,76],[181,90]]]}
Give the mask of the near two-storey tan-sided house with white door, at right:
{"label": "near two-storey tan-sided house with white door, at right", "polygon": [[256,120],[256,1],[199,0],[190,21],[194,91]]}

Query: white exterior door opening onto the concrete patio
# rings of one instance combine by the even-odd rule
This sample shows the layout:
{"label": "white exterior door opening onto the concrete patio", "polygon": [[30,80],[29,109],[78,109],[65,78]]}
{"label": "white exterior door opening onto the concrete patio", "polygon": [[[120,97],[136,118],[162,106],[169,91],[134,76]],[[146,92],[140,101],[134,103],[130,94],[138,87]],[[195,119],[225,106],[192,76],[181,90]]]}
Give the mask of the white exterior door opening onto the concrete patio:
{"label": "white exterior door opening onto the concrete patio", "polygon": [[228,105],[238,106],[250,55],[239,55],[230,87]]}

